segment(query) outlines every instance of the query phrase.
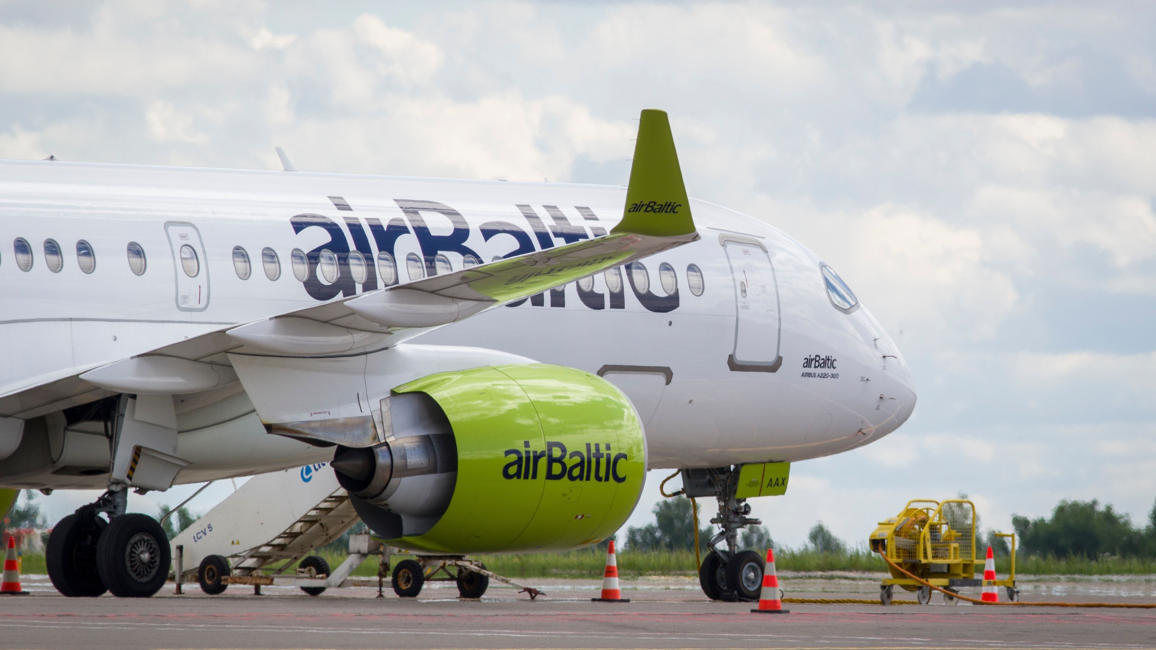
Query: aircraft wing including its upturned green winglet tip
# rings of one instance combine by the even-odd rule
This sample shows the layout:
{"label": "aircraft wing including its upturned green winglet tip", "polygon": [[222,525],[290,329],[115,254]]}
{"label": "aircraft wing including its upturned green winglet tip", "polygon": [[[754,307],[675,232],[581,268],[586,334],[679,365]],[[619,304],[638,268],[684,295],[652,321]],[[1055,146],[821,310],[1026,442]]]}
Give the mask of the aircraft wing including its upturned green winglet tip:
{"label": "aircraft wing including its upturned green winglet tip", "polygon": [[623,219],[609,234],[227,326],[144,354],[69,369],[0,396],[31,418],[117,393],[187,394],[237,380],[227,352],[347,356],[390,348],[488,308],[698,239],[667,115],[643,111]]}

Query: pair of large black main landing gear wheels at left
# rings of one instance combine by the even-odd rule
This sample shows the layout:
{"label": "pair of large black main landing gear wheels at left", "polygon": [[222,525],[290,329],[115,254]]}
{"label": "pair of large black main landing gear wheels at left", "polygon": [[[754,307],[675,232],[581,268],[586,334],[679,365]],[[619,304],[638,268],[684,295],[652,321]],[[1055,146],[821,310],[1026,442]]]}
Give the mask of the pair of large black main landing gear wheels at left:
{"label": "pair of large black main landing gear wheels at left", "polygon": [[125,513],[128,488],[119,487],[52,529],[45,563],[60,593],[94,597],[110,591],[121,598],[147,598],[164,587],[169,538],[153,517]]}

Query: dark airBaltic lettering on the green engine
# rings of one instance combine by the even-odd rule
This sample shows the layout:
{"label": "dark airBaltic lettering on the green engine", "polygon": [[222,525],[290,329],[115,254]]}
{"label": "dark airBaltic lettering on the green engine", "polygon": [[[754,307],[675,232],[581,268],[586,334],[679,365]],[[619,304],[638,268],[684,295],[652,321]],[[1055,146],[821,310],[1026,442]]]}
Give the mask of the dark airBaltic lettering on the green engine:
{"label": "dark airBaltic lettering on the green engine", "polygon": [[[505,456],[513,456],[513,460],[502,468],[502,478],[509,480],[523,479],[533,480],[538,478],[541,468],[546,480],[594,480],[603,483],[613,480],[623,483],[624,475],[618,473],[618,463],[627,460],[627,455],[621,451],[613,454],[610,443],[606,443],[606,451],[602,443],[595,442],[593,450],[591,443],[586,443],[586,451],[573,450],[566,454],[566,446],[557,441],[547,441],[546,449],[534,450],[529,448],[529,441],[523,441],[523,449],[506,449]],[[542,466],[542,461],[546,461]],[[569,465],[566,461],[573,461]]]}

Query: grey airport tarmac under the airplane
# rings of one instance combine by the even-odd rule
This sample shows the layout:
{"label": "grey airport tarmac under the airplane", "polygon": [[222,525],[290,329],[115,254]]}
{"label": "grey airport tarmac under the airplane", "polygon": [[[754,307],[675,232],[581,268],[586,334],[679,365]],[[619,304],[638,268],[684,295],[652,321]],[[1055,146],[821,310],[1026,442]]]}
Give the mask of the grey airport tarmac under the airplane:
{"label": "grey airport tarmac under the airplane", "polygon": [[[780,574],[787,597],[877,598],[877,577]],[[712,648],[795,650],[1112,650],[1156,648],[1156,610],[946,605],[788,604],[753,614],[749,603],[706,600],[689,576],[624,580],[630,603],[592,603],[598,581],[531,580],[531,600],[491,585],[461,600],[452,583],[401,599],[377,589],[232,585],[206,596],[175,585],[144,599],[64,598],[46,576],[24,576],[27,597],[0,598],[0,649],[158,648]],[[1156,576],[1021,581],[1023,600],[1156,603]],[[978,590],[977,590],[978,591]],[[1002,597],[1001,592],[1001,597]],[[911,595],[897,592],[897,598]]]}

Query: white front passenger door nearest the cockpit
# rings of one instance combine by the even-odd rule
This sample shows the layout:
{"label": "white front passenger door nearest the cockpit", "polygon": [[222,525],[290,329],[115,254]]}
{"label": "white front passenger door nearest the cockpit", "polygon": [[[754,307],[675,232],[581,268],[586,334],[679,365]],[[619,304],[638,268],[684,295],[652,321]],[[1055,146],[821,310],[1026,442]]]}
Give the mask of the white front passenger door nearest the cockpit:
{"label": "white front passenger door nearest the cockpit", "polygon": [[779,290],[765,246],[754,238],[722,236],[736,304],[732,371],[779,369]]}

